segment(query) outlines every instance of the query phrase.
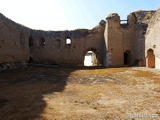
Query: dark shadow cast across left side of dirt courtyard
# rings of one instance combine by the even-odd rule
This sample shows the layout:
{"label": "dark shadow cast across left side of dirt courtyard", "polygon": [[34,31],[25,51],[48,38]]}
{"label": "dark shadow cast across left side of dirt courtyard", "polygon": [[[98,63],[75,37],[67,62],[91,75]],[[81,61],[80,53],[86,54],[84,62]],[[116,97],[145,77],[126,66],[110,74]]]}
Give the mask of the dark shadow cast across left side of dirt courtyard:
{"label": "dark shadow cast across left side of dirt courtyard", "polygon": [[0,120],[43,120],[43,95],[62,92],[75,69],[28,67],[0,73]]}

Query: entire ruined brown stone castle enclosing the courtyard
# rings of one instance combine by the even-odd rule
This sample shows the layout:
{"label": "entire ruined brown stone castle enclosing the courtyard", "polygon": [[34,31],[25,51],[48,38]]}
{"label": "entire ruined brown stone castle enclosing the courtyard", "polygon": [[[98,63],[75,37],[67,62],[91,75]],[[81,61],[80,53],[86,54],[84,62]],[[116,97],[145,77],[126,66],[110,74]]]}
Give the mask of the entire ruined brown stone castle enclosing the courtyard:
{"label": "entire ruined brown stone castle enclosing the courtyard", "polygon": [[[68,42],[69,41],[69,42]],[[93,51],[98,66],[160,68],[160,9],[116,13],[91,30],[41,31],[0,14],[0,63],[50,63],[83,66]]]}

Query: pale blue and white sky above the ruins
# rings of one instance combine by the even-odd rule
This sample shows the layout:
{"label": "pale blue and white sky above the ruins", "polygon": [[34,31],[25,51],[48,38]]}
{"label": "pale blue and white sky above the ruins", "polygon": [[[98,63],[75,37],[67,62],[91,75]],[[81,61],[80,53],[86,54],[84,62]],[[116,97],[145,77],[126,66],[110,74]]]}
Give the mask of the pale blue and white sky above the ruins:
{"label": "pale blue and white sky above the ruins", "polygon": [[91,29],[110,13],[126,19],[135,10],[159,7],[160,0],[0,0],[2,14],[43,30]]}

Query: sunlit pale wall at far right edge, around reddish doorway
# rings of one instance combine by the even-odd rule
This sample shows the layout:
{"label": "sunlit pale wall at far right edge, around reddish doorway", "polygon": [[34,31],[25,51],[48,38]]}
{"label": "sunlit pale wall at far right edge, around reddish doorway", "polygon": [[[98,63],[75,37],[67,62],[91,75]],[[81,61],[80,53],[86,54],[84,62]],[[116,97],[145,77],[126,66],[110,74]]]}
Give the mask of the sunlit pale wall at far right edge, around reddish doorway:
{"label": "sunlit pale wall at far right edge, around reddish doorway", "polygon": [[153,15],[149,22],[145,41],[146,65],[149,66],[148,51],[153,50],[155,55],[155,68],[160,69],[160,9]]}

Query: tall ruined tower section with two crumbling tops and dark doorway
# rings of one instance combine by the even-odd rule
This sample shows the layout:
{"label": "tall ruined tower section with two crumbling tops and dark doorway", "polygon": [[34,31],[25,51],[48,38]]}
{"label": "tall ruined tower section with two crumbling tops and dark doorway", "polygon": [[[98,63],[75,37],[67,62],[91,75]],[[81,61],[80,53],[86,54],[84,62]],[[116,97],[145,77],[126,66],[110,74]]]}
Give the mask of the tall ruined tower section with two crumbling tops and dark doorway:
{"label": "tall ruined tower section with two crumbling tops and dark doorway", "polygon": [[136,16],[131,13],[126,24],[120,24],[118,14],[110,14],[106,18],[105,43],[107,66],[124,66],[124,53],[129,53],[127,65],[144,66],[146,25],[137,23]]}

